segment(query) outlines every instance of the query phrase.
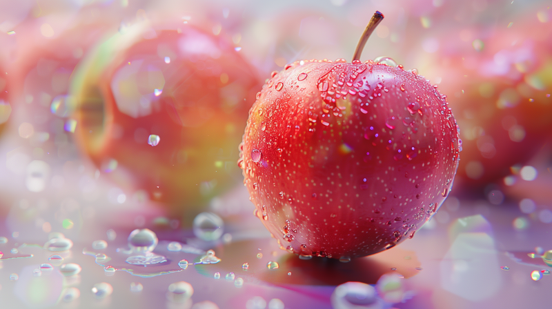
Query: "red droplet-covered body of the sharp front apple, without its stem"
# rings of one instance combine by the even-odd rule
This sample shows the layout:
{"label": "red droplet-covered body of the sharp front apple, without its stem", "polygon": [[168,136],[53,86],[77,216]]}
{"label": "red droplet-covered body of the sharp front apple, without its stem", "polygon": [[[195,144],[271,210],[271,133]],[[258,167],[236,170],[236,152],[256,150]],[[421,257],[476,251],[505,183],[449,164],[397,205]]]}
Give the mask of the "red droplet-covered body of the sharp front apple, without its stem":
{"label": "red droplet-covered body of the sharp front apple, without its stem", "polygon": [[450,192],[460,152],[448,103],[424,77],[342,59],[273,73],[240,148],[255,215],[280,248],[331,258],[412,237]]}

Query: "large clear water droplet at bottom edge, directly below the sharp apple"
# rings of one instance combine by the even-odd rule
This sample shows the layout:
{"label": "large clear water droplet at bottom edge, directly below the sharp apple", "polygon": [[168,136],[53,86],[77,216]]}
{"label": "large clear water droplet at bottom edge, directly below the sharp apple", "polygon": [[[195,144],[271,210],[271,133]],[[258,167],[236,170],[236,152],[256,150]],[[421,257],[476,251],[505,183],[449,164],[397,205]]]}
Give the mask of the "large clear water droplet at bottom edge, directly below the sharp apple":
{"label": "large clear water droplet at bottom edge, directly below the sharp apple", "polygon": [[331,295],[333,308],[383,308],[375,288],[366,283],[346,282],[337,286]]}

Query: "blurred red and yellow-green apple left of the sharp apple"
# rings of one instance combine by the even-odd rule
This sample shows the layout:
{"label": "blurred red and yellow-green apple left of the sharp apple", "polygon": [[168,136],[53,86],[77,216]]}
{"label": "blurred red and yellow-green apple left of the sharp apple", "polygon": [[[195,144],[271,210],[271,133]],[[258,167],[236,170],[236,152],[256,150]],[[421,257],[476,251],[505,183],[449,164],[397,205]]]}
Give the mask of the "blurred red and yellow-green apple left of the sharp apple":
{"label": "blurred red and yellow-green apple left of the sharp apple", "polygon": [[178,26],[115,34],[72,84],[81,150],[124,190],[172,210],[201,206],[239,179],[236,146],[259,85],[231,43]]}

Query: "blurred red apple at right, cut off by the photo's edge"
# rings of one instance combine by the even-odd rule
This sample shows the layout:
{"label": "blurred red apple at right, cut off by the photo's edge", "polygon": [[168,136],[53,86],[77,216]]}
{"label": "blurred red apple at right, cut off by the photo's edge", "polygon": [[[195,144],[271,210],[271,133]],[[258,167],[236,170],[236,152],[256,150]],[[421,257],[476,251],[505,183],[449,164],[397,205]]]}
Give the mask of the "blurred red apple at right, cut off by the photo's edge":
{"label": "blurred red apple at right, cut off by the photo's edge", "polygon": [[552,28],[533,16],[512,28],[447,29],[432,55],[428,76],[442,78],[462,128],[462,194],[482,194],[550,141]]}

